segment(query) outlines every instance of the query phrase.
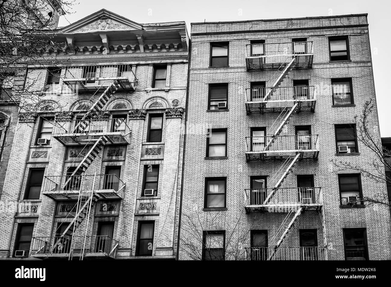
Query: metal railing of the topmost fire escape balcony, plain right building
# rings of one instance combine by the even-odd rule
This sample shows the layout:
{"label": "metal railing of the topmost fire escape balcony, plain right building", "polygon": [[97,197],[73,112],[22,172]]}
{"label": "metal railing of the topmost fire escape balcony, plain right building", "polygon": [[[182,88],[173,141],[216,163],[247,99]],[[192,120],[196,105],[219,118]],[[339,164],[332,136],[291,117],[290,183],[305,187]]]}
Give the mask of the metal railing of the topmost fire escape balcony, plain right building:
{"label": "metal railing of the topmost fire escape balcony, plain right building", "polygon": [[[255,49],[254,49],[255,48]],[[312,54],[312,41],[282,42],[246,45],[246,55],[250,57],[268,57],[279,55]]]}

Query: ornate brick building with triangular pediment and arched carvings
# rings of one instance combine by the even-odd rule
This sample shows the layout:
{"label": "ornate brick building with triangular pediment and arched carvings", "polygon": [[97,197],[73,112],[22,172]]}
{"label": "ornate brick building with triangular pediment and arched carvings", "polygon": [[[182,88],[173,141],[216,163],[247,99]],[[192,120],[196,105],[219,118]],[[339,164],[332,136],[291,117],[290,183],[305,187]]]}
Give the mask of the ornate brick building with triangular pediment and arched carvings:
{"label": "ornate brick building with triangular pediment and arched carvings", "polygon": [[28,62],[41,101],[12,117],[0,257],[175,258],[185,23],[102,9],[53,33]]}

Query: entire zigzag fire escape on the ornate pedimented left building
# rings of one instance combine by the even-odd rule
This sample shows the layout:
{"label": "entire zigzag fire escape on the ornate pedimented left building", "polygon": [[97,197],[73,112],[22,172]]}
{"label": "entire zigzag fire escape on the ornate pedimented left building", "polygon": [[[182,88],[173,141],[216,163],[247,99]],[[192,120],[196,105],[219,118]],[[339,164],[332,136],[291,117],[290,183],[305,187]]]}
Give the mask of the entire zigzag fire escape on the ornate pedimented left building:
{"label": "entire zigzag fire escape on the ornate pedimented left building", "polygon": [[[107,77],[96,77],[96,71]],[[73,72],[83,71],[82,77]],[[93,71],[93,72],[91,72]],[[116,72],[117,77],[111,77]],[[88,236],[91,233],[91,210],[98,200],[123,199],[126,184],[117,175],[87,174],[88,167],[106,144],[128,144],[131,130],[124,119],[100,118],[103,107],[120,90],[135,91],[137,79],[127,65],[69,67],[64,83],[74,91],[95,91],[89,109],[75,119],[57,121],[53,137],[67,147],[80,147],[76,159],[81,159],[66,175],[45,176],[43,194],[55,201],[72,201],[54,236],[33,237],[32,257],[114,258],[119,242],[108,236]],[[99,94],[99,91],[103,92]],[[75,159],[75,160],[76,160]]]}

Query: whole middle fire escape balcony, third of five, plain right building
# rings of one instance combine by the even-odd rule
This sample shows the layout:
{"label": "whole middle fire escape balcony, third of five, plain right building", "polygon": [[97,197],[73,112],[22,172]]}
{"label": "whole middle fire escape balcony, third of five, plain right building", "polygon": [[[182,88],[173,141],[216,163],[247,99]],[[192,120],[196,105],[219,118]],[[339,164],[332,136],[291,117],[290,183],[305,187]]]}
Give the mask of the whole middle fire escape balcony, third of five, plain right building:
{"label": "whole middle fire escape balcony, third of five, plain right building", "polygon": [[246,137],[246,160],[285,159],[301,153],[300,159],[317,159],[319,135]]}

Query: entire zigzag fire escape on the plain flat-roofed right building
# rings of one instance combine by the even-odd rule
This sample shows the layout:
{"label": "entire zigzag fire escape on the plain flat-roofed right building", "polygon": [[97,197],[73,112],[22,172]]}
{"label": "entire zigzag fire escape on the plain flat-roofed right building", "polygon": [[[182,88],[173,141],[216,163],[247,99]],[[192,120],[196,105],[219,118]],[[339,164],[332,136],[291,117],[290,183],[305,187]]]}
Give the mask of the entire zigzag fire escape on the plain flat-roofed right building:
{"label": "entire zigzag fire escape on the plain flat-roofed right building", "polygon": [[[256,51],[256,52],[255,52]],[[252,260],[325,260],[326,237],[323,201],[320,188],[281,188],[285,178],[300,160],[317,160],[319,154],[318,135],[285,135],[293,114],[302,111],[315,112],[316,88],[300,85],[285,87],[283,80],[294,69],[312,68],[314,57],[312,42],[290,42],[251,44],[247,46],[246,66],[248,70],[275,70],[265,87],[246,89],[246,113],[277,113],[273,124],[264,136],[246,137],[246,159],[280,160],[280,168],[268,182],[272,188],[246,189],[246,212],[286,212],[287,215],[277,231],[269,238],[267,248],[248,248]],[[284,129],[285,128],[285,129]],[[278,211],[277,211],[278,210]],[[280,248],[296,219],[306,210],[316,210],[321,216],[323,247],[316,256],[307,256],[303,248]],[[310,250],[311,252],[313,250]],[[307,254],[307,255],[305,255]],[[307,257],[306,257],[307,256]],[[304,258],[304,259],[303,259]],[[308,259],[310,258],[310,259]]]}

